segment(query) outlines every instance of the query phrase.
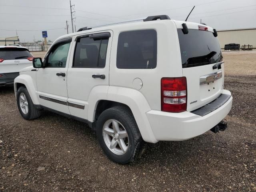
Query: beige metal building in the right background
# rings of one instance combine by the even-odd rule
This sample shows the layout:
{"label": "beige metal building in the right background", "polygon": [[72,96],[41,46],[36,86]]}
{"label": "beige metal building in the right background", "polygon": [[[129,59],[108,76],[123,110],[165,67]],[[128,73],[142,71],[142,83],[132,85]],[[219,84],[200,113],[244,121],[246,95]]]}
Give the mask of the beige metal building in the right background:
{"label": "beige metal building in the right background", "polygon": [[224,49],[225,44],[236,43],[242,45],[252,45],[256,48],[256,28],[219,30],[218,39],[220,47]]}

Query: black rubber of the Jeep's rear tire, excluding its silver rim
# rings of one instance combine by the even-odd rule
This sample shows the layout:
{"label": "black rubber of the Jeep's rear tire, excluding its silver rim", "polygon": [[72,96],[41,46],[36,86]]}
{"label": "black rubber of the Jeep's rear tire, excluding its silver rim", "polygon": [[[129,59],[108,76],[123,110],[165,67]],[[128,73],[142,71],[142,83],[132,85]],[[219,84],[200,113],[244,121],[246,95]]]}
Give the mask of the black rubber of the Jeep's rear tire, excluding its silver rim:
{"label": "black rubber of the Jeep's rear tire, excluding its silver rim", "polygon": [[[108,120],[117,120],[120,122],[128,134],[129,145],[124,154],[115,154],[108,148],[104,141],[103,126]],[[116,163],[128,164],[134,162],[143,154],[146,148],[146,142],[142,139],[134,116],[131,110],[126,106],[115,106],[102,112],[98,118],[96,129],[102,150],[110,160]]]}

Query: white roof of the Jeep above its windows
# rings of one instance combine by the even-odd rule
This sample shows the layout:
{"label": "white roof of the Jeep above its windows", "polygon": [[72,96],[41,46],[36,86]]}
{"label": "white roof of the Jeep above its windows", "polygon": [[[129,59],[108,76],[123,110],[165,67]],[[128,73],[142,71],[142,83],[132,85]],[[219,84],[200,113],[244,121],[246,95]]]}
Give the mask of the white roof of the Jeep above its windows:
{"label": "white roof of the Jeep above its windows", "polygon": [[[154,17],[154,16],[150,16],[150,17]],[[148,17],[148,18],[150,18]],[[147,19],[147,18],[146,18]],[[74,33],[70,33],[70,34],[66,34],[63,36],[60,36],[59,38],[57,38],[56,40],[62,39],[62,38],[66,38],[66,37],[70,37],[70,36],[75,36],[75,35],[80,35],[80,34],[85,34],[85,33],[90,33],[90,32],[98,32],[98,31],[106,31],[106,30],[114,30],[117,28],[121,28],[122,26],[128,26],[130,25],[131,27],[134,25],[138,25],[138,24],[148,24],[149,22],[151,24],[156,24],[157,22],[162,22],[162,23],[166,23],[166,22],[174,22],[176,24],[177,28],[182,28],[182,24],[185,23],[189,29],[197,29],[198,30],[198,26],[205,26],[208,28],[208,31],[213,32],[213,28],[210,26],[206,26],[204,24],[200,24],[200,23],[194,23],[194,22],[186,22],[186,21],[177,21],[177,20],[172,20],[172,19],[162,19],[162,20],[147,20],[146,19],[140,18],[137,20],[129,20],[129,21],[123,21],[120,23],[115,23],[115,24],[108,24],[105,26],[96,26],[96,27],[92,27],[92,28],[87,28],[84,27],[84,30],[82,31],[78,31],[78,32],[74,32]],[[143,22],[144,20],[144,22]]]}

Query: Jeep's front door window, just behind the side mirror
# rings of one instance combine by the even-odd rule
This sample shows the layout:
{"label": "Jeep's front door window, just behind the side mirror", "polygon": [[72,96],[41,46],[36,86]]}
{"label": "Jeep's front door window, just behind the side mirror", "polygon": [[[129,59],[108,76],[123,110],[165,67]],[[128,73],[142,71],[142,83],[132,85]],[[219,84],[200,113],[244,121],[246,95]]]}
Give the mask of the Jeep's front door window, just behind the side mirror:
{"label": "Jeep's front door window, just behind the side mirror", "polygon": [[54,46],[48,55],[46,67],[66,67],[69,46],[70,42],[62,42]]}

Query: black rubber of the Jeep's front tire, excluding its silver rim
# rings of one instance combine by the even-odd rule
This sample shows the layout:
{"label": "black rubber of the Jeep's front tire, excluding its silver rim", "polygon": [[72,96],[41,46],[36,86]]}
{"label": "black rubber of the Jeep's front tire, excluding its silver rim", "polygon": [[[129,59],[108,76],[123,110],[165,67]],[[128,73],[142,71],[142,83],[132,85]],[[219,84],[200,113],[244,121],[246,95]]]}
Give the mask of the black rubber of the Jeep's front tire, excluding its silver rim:
{"label": "black rubber of the Jeep's front tire, excluding its silver rim", "polygon": [[[24,93],[26,96],[26,99],[28,101],[28,113],[24,114],[24,112],[22,112],[21,108],[20,108],[20,94]],[[30,119],[35,119],[38,118],[41,114],[40,110],[38,110],[35,106],[34,103],[32,102],[32,99],[28,93],[28,90],[26,87],[22,86],[18,89],[17,91],[17,105],[20,111],[21,116],[26,119],[26,120],[30,120]]]}

